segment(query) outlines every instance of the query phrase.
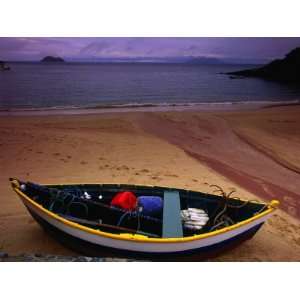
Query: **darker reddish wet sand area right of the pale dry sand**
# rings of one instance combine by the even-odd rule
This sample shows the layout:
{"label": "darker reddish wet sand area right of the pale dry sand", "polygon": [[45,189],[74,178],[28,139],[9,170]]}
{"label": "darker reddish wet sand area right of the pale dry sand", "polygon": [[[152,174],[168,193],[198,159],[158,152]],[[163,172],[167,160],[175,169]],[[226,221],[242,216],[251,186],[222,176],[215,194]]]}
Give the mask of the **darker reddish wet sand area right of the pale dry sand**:
{"label": "darker reddish wet sand area right of the pale dry sand", "polygon": [[[249,112],[162,113],[143,128],[300,218],[300,106]],[[283,180],[284,179],[284,180]]]}

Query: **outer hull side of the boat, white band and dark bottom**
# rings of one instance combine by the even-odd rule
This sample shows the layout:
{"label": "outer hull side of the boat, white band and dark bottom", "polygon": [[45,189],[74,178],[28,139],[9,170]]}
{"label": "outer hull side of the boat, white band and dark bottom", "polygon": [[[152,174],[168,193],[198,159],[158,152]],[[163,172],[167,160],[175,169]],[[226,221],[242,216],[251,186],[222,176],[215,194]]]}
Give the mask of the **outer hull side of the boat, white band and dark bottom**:
{"label": "outer hull side of the boat, white band and dark bottom", "polygon": [[250,239],[270,216],[265,215],[236,229],[206,238],[175,242],[139,241],[122,237],[112,238],[81,230],[53,218],[26,197],[20,198],[33,218],[49,234],[72,250],[89,256],[119,255],[172,260],[188,255],[204,259],[216,256]]}

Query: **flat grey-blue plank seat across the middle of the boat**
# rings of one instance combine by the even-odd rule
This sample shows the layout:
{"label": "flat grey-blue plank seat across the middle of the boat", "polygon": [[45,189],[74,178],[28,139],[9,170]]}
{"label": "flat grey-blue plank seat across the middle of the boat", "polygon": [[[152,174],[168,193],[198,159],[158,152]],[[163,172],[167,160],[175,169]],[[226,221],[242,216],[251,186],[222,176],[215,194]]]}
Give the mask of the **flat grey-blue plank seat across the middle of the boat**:
{"label": "flat grey-blue plank seat across the middle of the boat", "polygon": [[177,191],[164,192],[162,237],[183,237],[180,215],[180,196]]}

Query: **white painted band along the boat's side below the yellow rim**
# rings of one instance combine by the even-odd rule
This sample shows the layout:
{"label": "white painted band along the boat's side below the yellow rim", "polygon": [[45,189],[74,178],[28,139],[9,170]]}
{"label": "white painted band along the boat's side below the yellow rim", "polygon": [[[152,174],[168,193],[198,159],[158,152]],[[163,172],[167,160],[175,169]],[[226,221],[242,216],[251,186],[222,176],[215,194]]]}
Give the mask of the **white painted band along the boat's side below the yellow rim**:
{"label": "white painted band along the boat's side below the yellow rim", "polygon": [[22,195],[20,195],[20,197],[29,211],[38,215],[40,218],[42,218],[61,232],[64,232],[80,240],[92,243],[94,245],[143,253],[176,253],[183,251],[201,250],[201,248],[204,249],[206,247],[213,247],[214,245],[218,245],[222,242],[225,243],[227,240],[231,240],[235,237],[241,236],[243,233],[246,233],[247,231],[261,225],[271,216],[271,213],[268,213],[261,216],[260,218],[256,218],[255,220],[248,222],[247,224],[238,226],[237,228],[204,238],[199,235],[199,238],[191,240],[182,239],[180,241],[172,241],[172,239],[169,239],[169,241],[159,241],[159,239],[157,239],[157,241],[155,241],[155,239],[149,239],[149,241],[143,241],[134,238],[134,235],[132,239],[129,239],[128,237],[122,238],[122,235],[112,235],[115,237],[108,237],[105,234],[102,235],[101,231],[93,233],[82,230],[80,228],[77,228],[76,226],[72,226],[72,224],[62,222],[59,218],[53,218],[53,216],[49,215],[46,211],[41,209],[32,201],[28,201],[26,198],[22,197]]}

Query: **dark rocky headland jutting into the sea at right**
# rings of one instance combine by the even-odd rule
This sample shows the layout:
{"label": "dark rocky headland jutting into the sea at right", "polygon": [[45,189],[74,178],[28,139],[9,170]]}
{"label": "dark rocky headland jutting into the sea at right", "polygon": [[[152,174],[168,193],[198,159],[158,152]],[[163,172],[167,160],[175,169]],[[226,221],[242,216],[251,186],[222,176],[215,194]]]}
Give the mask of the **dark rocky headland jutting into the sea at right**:
{"label": "dark rocky headland jutting into the sea at right", "polygon": [[263,67],[225,74],[239,77],[257,77],[280,82],[300,82],[300,47],[289,52],[285,58],[273,60]]}

